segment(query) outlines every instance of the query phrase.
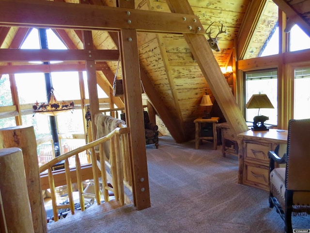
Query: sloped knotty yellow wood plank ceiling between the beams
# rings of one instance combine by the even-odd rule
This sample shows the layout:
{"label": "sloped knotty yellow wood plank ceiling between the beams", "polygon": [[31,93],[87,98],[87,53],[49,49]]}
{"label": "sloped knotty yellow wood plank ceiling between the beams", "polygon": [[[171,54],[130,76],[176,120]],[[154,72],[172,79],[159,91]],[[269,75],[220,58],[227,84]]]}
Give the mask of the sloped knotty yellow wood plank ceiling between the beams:
{"label": "sloped knotty yellow wood plank ceiling between the beams", "polygon": [[[54,1],[63,2],[62,0]],[[65,0],[65,2],[79,3],[79,0]],[[257,15],[258,12],[258,9],[253,6],[255,4],[253,2],[256,2],[256,4],[257,2],[262,2],[263,20],[260,20],[261,15],[258,16],[259,19],[248,20],[250,16]],[[291,19],[295,20],[294,22],[298,23],[303,20],[302,23],[304,24],[304,18],[309,20],[308,14],[304,10],[305,2],[308,2],[307,7],[309,7],[309,0],[303,1],[303,3],[285,0],[275,0],[274,2],[283,11],[288,11],[287,9],[292,11],[292,7],[296,7],[296,11],[302,12],[302,15],[296,12],[290,13]],[[216,22],[214,23],[215,25],[223,23],[227,27],[227,34],[219,35],[221,38],[218,40],[218,45],[221,50],[219,52],[213,51],[219,67],[235,67],[234,62],[238,56],[237,53],[241,50],[245,51],[244,57],[257,56],[270,31],[277,23],[278,12],[274,2],[271,0],[188,0],[194,14],[202,23],[202,30],[205,30],[213,22]],[[117,6],[116,0],[88,0],[88,3],[111,7]],[[140,10],[171,12],[165,0],[135,0],[135,7]],[[192,24],[192,22],[189,22],[189,19],[184,20],[188,20],[188,24]],[[154,18],[154,21],[156,21],[156,18]],[[251,25],[250,29],[245,31],[244,28],[247,28],[248,23],[255,25]],[[309,29],[309,22],[305,28]],[[70,50],[84,49],[81,31],[61,28],[53,30]],[[213,31],[217,33],[217,27]],[[238,39],[241,38],[240,41],[242,41],[242,38],[245,38],[244,35],[240,35],[239,31],[247,35],[251,34],[252,43],[238,44]],[[27,27],[0,27],[0,49],[19,48],[28,33],[29,28]],[[155,110],[158,110],[158,113],[162,113],[159,113],[159,115],[163,124],[166,125],[177,142],[192,139],[194,136],[193,120],[198,116],[202,116],[202,111],[204,110],[199,106],[202,95],[208,92],[213,97],[213,101],[215,101],[215,98],[184,36],[180,33],[151,33],[142,31],[139,31],[137,35],[140,70],[141,73],[143,72],[141,80],[143,76],[144,81],[147,78],[147,82],[149,82],[145,83],[145,85],[148,85],[147,89],[149,92],[146,91],[142,95],[143,99],[149,99],[153,103]],[[117,32],[92,30],[92,36],[95,50],[114,50],[117,52],[119,49]],[[207,35],[205,36],[207,38]],[[244,46],[245,49],[238,48],[241,46]],[[3,55],[3,53],[0,53],[0,58],[1,54]],[[97,83],[108,95],[111,93],[114,74],[118,67],[118,52],[110,53],[109,56],[112,59],[96,62]],[[101,58],[100,60],[103,59]],[[0,61],[4,60],[0,59]],[[10,61],[10,66],[15,65],[26,65],[26,63]],[[8,67],[7,62],[0,63],[0,75],[5,73],[5,67]],[[122,78],[122,66],[118,70],[117,76],[119,79]],[[227,78],[227,82],[232,86],[232,90],[234,90],[234,80],[235,75]],[[221,87],[217,86],[216,88]],[[110,102],[113,102],[118,107],[124,106],[123,98],[111,96]],[[164,111],[167,112],[165,116],[163,114]]]}

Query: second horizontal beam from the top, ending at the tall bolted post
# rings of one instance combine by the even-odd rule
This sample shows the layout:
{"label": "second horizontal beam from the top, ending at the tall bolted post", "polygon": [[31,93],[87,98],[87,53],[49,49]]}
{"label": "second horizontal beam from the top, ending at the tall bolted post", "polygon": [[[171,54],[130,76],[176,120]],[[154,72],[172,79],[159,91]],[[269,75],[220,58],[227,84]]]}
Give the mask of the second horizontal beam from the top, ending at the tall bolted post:
{"label": "second horizontal beam from the top, ending at the tall bolted post", "polygon": [[0,49],[0,62],[118,61],[118,50],[18,50]]}

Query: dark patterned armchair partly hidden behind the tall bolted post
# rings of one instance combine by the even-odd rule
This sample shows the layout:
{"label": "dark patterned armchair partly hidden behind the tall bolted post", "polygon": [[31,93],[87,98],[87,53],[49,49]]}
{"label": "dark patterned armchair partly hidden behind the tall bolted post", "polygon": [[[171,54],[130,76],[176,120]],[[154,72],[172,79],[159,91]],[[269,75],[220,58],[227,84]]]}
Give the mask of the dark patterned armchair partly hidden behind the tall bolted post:
{"label": "dark patterned armchair partly hidden behind the tall bolted post", "polygon": [[[145,143],[146,145],[155,144],[158,149],[158,126],[150,122],[149,114],[143,111],[144,117],[144,130],[145,130]],[[126,122],[125,113],[121,114],[121,119]]]}

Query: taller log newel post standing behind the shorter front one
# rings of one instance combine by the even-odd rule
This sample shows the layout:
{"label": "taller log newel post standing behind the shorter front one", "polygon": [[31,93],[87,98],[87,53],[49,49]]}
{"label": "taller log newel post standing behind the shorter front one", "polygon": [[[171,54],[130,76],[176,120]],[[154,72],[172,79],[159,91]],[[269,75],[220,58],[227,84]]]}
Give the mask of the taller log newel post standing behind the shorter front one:
{"label": "taller log newel post standing behind the shorter front one", "polygon": [[22,150],[34,232],[47,233],[47,217],[40,185],[37,143],[33,126],[0,129],[0,149],[12,147]]}

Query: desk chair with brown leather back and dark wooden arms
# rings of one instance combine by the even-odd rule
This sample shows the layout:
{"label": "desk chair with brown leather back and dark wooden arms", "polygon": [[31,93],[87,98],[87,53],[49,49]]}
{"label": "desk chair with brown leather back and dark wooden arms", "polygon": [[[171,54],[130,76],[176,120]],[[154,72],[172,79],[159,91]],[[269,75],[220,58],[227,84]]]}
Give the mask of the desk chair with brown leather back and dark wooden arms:
{"label": "desk chair with brown leather back and dark wooden arms", "polygon": [[[292,232],[292,213],[310,215],[310,119],[290,120],[287,151],[278,156],[279,147],[268,151],[270,158],[269,206],[275,207]],[[286,167],[276,167],[284,163]]]}

